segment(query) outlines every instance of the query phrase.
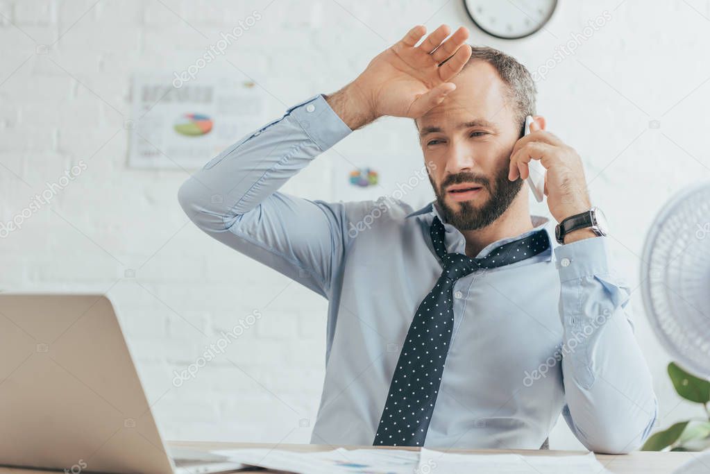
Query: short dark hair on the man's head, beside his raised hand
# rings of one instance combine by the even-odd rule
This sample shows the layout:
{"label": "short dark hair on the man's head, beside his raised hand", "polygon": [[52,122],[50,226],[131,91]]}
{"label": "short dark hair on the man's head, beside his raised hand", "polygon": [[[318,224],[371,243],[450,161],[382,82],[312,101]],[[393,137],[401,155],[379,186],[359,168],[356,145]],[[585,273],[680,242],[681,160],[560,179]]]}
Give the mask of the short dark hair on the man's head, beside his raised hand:
{"label": "short dark hair on the man's head, beside his raised hand", "polygon": [[[476,61],[488,62],[496,68],[498,76],[508,86],[510,92],[508,99],[515,106],[515,120],[520,123],[521,130],[525,124],[525,117],[535,115],[535,96],[537,88],[528,68],[520,64],[513,56],[506,55],[503,51],[489,46],[471,46],[471,57],[464,65],[463,70]],[[449,58],[450,59],[450,58]],[[444,60],[444,64],[447,60]]]}

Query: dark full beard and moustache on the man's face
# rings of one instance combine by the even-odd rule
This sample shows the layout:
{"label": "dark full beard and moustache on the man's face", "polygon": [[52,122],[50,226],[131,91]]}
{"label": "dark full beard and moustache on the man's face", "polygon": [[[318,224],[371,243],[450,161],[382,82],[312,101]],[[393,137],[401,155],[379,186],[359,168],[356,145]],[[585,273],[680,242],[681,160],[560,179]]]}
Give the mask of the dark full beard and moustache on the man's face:
{"label": "dark full beard and moustache on the man's face", "polygon": [[[506,163],[505,161],[503,162]],[[439,204],[439,209],[442,209],[442,217],[444,220],[460,231],[475,231],[476,229],[488,226],[498,219],[498,217],[510,207],[513,199],[515,199],[518,192],[520,192],[520,188],[523,187],[523,180],[508,180],[508,170],[508,163],[498,170],[495,176],[495,186],[492,188],[491,180],[488,180],[487,177],[476,176],[468,172],[462,172],[458,175],[449,175],[440,188],[434,184],[431,175],[429,175],[429,180],[437,195],[437,204]],[[457,202],[459,206],[459,210],[457,211],[446,203],[445,197],[447,192],[442,191],[442,189],[452,184],[469,182],[480,184],[485,189],[488,189],[488,193],[491,197],[480,207],[476,207],[476,204],[470,201]]]}

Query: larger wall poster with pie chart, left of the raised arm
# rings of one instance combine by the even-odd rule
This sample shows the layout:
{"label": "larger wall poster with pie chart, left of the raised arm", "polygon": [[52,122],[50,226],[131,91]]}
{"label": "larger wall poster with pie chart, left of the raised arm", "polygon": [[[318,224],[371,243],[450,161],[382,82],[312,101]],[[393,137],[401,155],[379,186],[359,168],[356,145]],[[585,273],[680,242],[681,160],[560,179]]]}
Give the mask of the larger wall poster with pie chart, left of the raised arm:
{"label": "larger wall poster with pie chart, left of the raised arm", "polygon": [[133,76],[129,167],[197,169],[266,122],[252,82]]}

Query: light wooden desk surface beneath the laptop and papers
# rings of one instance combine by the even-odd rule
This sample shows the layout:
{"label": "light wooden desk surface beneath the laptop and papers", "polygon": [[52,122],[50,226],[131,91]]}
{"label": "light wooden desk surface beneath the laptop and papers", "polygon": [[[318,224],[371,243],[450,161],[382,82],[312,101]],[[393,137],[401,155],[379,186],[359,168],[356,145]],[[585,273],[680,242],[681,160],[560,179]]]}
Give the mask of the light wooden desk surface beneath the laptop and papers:
{"label": "light wooden desk surface beneath the laptop and papers", "polygon": [[[273,449],[283,449],[290,451],[327,451],[330,449],[337,448],[339,446],[324,446],[316,444],[276,444],[276,443],[214,443],[214,442],[186,442],[186,441],[173,441],[169,443],[170,446],[180,446],[183,448],[197,448],[197,449],[235,449],[235,448],[273,448]],[[344,448],[354,449],[354,448],[373,448],[373,446],[343,446]],[[408,449],[416,450],[417,448],[398,448],[398,449]],[[479,449],[479,450],[465,450],[456,449],[452,450],[452,453],[478,453],[478,454],[501,454],[501,453],[519,453],[529,456],[566,456],[569,454],[579,454],[583,453],[581,451],[555,451],[555,450],[493,450],[493,449]],[[608,470],[615,474],[668,474],[677,468],[679,465],[689,460],[694,456],[694,453],[653,453],[653,452],[635,452],[627,455],[611,456],[608,454],[598,454],[596,458],[599,462],[604,465]],[[18,468],[0,468],[0,474],[47,474],[49,471],[46,470],[28,470],[28,469],[18,469]],[[62,472],[62,471],[59,471]],[[256,474],[265,474],[271,471],[265,470],[253,470],[253,471],[241,471]],[[444,473],[442,473],[444,474]]]}

